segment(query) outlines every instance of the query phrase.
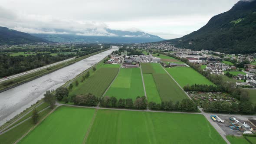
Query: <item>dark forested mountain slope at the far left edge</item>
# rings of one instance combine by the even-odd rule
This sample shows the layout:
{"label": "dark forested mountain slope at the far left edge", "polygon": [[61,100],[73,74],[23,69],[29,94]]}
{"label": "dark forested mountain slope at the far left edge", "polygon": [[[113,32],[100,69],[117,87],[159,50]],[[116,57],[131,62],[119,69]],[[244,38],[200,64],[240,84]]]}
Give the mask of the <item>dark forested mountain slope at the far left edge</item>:
{"label": "dark forested mountain slope at the far left edge", "polygon": [[47,42],[47,40],[38,38],[36,36],[31,36],[28,33],[23,33],[0,26],[0,45],[17,45],[35,42]]}

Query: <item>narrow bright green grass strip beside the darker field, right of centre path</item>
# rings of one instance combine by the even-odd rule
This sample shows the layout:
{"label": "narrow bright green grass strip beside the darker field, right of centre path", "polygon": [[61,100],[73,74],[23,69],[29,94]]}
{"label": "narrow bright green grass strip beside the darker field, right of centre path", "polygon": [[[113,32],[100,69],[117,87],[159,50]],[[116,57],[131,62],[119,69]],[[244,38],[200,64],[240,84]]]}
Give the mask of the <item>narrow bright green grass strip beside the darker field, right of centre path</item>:
{"label": "narrow bright green grass strip beside the darker field, right of centre path", "polygon": [[158,89],[156,87],[156,84],[154,82],[152,74],[144,73],[143,79],[144,79],[144,83],[145,83],[145,89],[146,89],[148,101],[149,102],[154,101],[154,102],[160,104],[161,98],[158,93]]}

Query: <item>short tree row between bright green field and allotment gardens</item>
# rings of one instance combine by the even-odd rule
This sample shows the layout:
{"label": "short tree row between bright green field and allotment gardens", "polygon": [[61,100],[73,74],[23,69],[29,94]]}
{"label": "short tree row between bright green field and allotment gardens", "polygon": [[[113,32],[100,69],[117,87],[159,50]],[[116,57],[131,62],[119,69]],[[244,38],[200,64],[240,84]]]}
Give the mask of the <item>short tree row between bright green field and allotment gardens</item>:
{"label": "short tree row between bright green field and allotment gardens", "polygon": [[196,91],[196,92],[225,92],[225,90],[219,86],[213,85],[186,85],[184,91]]}

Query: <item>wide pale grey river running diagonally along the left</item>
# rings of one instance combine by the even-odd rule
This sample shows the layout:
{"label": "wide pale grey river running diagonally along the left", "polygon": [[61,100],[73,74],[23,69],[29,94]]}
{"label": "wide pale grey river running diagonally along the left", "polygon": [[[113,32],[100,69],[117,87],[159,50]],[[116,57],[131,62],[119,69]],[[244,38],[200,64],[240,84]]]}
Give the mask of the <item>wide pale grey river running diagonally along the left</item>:
{"label": "wide pale grey river running diagonally along the left", "polygon": [[117,49],[101,52],[48,75],[44,75],[23,85],[1,92],[0,125],[6,123],[15,115],[20,114],[20,112],[35,104],[36,101],[43,98],[43,94],[45,94],[47,90],[56,89],[65,84],[69,80],[75,78],[76,75],[79,75],[81,72],[89,69],[92,65],[100,62],[114,50]]}

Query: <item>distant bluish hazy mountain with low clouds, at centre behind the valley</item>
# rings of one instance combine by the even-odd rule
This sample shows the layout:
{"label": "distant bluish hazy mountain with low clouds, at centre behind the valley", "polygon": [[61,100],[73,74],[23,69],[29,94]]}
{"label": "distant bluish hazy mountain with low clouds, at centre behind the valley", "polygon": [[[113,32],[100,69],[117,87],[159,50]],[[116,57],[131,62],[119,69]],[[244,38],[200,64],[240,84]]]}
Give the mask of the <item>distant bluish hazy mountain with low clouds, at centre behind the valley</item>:
{"label": "distant bluish hazy mountain with low clouds, at centre behind the valley", "polygon": [[[57,32],[64,32],[64,30],[58,29]],[[95,31],[93,29],[87,29],[87,32]],[[47,39],[53,42],[88,42],[88,43],[148,43],[158,42],[164,40],[159,36],[154,36],[144,32],[129,32],[114,29],[105,29],[107,33],[105,36],[86,36],[86,34],[79,32],[68,32],[68,34],[32,34],[42,39]],[[97,34],[97,33],[96,33]]]}

